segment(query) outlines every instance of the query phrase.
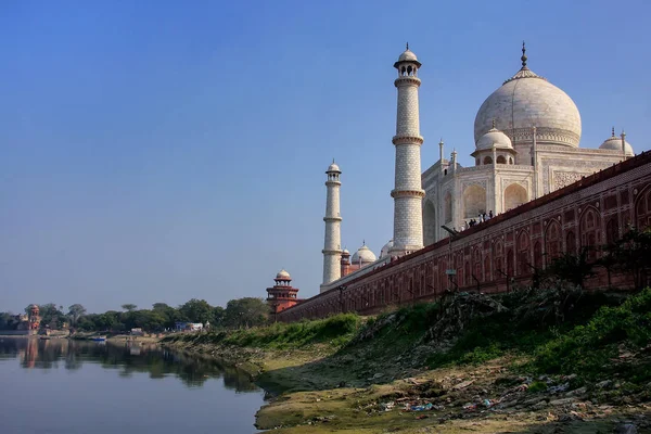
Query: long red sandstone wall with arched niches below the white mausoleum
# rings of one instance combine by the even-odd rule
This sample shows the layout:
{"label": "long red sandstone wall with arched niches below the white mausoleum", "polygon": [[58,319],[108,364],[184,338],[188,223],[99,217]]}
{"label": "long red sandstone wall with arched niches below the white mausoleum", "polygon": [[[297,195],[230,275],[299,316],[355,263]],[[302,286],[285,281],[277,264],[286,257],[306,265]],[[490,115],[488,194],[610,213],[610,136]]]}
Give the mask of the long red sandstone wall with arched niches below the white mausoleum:
{"label": "long red sandstone wall with arched niches below the white mausoleum", "polygon": [[[321,318],[340,311],[373,314],[387,306],[435,299],[449,285],[445,270],[457,270],[454,290],[507,291],[528,284],[533,267],[544,268],[562,252],[602,245],[628,225],[651,225],[651,153],[586,177],[536,201],[439,241],[347,284],[283,310],[281,321]],[[598,256],[598,253],[596,254]],[[612,284],[630,282],[614,276]],[[608,284],[605,272],[590,289]]]}

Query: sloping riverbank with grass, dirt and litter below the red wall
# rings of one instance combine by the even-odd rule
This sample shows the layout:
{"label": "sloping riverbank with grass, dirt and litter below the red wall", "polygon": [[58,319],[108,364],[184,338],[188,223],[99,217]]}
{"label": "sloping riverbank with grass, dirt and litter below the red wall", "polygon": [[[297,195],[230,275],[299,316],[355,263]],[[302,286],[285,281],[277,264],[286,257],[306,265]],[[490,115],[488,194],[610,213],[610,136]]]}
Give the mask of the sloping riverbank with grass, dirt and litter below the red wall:
{"label": "sloping riverbank with grass, dirt and litter below the red wall", "polygon": [[[651,291],[465,294],[163,344],[238,365],[279,433],[612,432],[651,425]],[[601,306],[601,309],[599,309]]]}

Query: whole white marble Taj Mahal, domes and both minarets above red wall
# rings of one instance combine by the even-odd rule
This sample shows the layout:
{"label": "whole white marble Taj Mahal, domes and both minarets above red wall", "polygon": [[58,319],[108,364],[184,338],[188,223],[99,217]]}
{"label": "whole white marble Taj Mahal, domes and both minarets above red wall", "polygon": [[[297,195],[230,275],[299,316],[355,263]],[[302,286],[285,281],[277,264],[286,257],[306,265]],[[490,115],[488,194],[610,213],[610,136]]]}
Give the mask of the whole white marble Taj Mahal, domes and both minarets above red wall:
{"label": "whole white marble Taj Mahal, domes and both minarets above red wall", "polygon": [[[397,72],[393,239],[379,257],[366,245],[353,255],[342,250],[342,170],[333,162],[326,171],[321,293],[448,237],[448,228],[461,231],[477,217],[506,213],[635,155],[626,133],[615,135],[614,128],[602,143],[580,148],[582,122],[574,101],[529,69],[524,43],[520,60],[520,69],[476,113],[474,166],[462,167],[456,151],[446,157],[442,140],[438,161],[422,171],[421,63],[407,46],[393,65]],[[286,283],[290,276],[281,270],[277,278]],[[290,296],[282,308],[301,302],[295,292]]]}

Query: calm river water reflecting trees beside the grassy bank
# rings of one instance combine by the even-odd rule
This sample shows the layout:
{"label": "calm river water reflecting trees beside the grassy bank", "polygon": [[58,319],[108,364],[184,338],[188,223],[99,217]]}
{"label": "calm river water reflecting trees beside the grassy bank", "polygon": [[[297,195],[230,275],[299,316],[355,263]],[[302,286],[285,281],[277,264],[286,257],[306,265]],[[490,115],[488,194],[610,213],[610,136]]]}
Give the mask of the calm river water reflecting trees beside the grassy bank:
{"label": "calm river water reflecting trees beside the grassy bank", "polygon": [[0,433],[255,433],[265,393],[155,345],[0,336]]}

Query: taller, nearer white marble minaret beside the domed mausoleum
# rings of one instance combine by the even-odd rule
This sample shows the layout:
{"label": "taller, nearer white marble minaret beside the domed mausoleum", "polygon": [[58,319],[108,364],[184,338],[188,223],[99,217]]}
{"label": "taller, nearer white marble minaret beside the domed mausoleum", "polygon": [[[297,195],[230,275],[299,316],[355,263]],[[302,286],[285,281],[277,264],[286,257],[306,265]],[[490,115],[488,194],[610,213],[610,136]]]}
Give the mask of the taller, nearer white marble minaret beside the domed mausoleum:
{"label": "taller, nearer white marble minaret beside the domed mausoleum", "polygon": [[396,146],[396,180],[391,192],[394,199],[394,245],[391,255],[401,256],[423,248],[422,200],[425,192],[421,183],[420,116],[418,113],[418,69],[421,64],[416,54],[407,50],[394,67],[398,78],[398,116],[393,144]]}

